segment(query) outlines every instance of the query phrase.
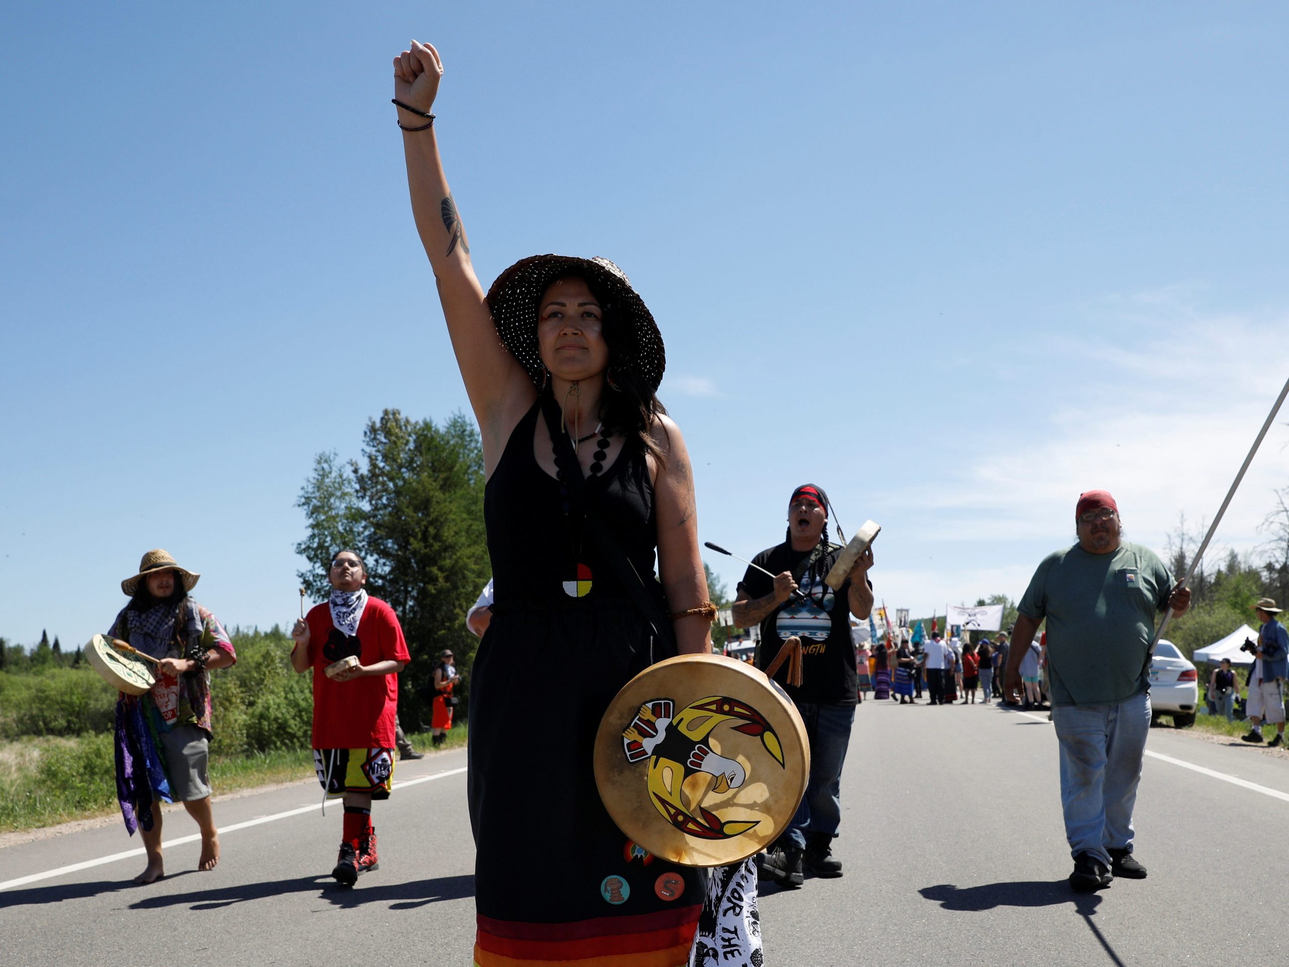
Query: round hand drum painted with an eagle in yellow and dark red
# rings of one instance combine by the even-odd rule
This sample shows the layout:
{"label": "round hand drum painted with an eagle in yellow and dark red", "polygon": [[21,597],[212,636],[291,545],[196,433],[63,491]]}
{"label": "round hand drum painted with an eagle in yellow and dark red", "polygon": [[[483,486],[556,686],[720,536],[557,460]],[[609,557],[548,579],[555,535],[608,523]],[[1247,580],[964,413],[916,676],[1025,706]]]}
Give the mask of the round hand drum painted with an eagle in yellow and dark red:
{"label": "round hand drum painted with an eagle in yellow and dark red", "polygon": [[721,866],[784,832],[809,743],[791,700],[749,664],[679,655],[632,678],[596,735],[596,785],[623,833],[670,863]]}

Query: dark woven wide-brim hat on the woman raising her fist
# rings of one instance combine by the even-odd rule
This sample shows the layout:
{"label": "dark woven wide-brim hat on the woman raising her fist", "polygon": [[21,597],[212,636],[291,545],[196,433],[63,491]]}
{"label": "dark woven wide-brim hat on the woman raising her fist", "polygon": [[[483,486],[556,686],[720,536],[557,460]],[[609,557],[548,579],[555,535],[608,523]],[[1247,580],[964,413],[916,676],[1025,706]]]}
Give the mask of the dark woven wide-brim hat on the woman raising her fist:
{"label": "dark woven wide-brim hat on the woman raising her fist", "polygon": [[644,300],[632,288],[626,273],[605,258],[575,255],[530,255],[519,259],[492,282],[487,304],[501,343],[534,383],[541,386],[543,365],[538,348],[538,304],[543,293],[557,278],[581,276],[607,295],[605,316],[611,325],[621,326],[626,337],[623,365],[630,366],[641,379],[657,392],[666,369],[663,334]]}

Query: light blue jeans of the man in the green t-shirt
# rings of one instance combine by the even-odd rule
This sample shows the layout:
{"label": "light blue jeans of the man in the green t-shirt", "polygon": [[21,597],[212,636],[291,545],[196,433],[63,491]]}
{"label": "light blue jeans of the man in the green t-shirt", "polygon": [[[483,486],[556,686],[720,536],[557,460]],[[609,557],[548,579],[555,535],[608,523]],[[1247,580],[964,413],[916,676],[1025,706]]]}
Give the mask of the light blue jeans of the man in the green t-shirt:
{"label": "light blue jeans of the man in the green t-shirt", "polygon": [[1109,705],[1054,705],[1061,744],[1061,810],[1070,855],[1132,851],[1132,810],[1150,734],[1150,695]]}

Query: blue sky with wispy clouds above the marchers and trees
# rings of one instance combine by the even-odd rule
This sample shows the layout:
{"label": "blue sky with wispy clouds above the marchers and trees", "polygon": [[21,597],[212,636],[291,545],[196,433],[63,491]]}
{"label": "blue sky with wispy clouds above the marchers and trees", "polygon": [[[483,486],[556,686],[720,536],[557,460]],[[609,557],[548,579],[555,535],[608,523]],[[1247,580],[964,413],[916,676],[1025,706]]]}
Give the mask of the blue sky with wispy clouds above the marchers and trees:
{"label": "blue sky with wispy clouds above the marchers and trees", "polygon": [[[412,36],[485,285],[598,254],[652,308],[703,539],[751,556],[813,481],[915,614],[1018,597],[1089,487],[1161,548],[1289,375],[1286,35],[1279,4],[10,4],[0,636],[88,640],[157,545],[285,623],[313,455],[467,409],[388,103]],[[1263,539],[1285,420],[1219,548]]]}

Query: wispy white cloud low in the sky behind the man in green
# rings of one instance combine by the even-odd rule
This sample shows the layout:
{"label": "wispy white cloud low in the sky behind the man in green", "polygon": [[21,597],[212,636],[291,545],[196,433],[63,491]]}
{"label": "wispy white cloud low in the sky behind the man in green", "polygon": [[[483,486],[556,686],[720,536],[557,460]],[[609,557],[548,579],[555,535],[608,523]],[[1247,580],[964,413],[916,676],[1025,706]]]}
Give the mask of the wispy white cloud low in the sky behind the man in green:
{"label": "wispy white cloud low in the sky behind the man in green", "polygon": [[[1071,542],[1080,490],[1110,490],[1129,538],[1160,553],[1179,514],[1188,529],[1213,520],[1289,376],[1277,362],[1289,318],[1204,316],[1178,290],[1115,308],[1121,338],[1066,337],[1018,361],[1018,371],[1039,375],[1017,383],[1018,405],[1048,411],[1038,433],[886,494],[889,507],[906,512],[906,538],[942,549],[926,570],[883,575],[896,598],[933,594],[956,603],[1023,589],[1039,557],[1012,569],[993,548]],[[1286,484],[1289,405],[1218,527],[1209,566],[1230,548],[1248,553],[1265,539],[1258,526],[1274,507],[1271,491]],[[963,566],[944,567],[955,554]]]}

